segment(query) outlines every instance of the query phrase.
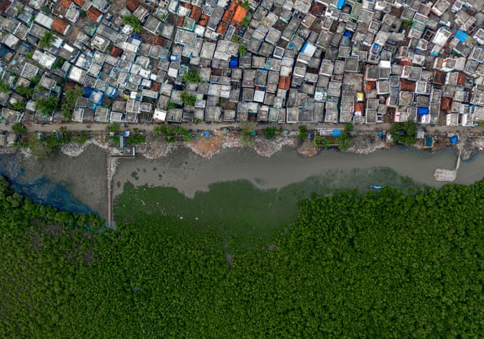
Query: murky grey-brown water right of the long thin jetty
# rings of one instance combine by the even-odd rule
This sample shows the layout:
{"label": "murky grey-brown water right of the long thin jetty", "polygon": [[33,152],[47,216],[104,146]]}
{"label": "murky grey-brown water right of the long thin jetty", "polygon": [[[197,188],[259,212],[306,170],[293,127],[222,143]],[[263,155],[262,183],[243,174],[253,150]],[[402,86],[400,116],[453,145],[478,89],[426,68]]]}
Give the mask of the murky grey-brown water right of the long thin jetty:
{"label": "murky grey-brown water right of the long thin jetty", "polygon": [[[308,177],[325,175],[328,171],[384,166],[411,177],[416,183],[440,187],[444,183],[434,180],[434,169],[454,168],[455,162],[456,153],[450,149],[436,154],[400,148],[379,150],[370,155],[326,151],[311,158],[301,157],[290,148],[270,158],[244,149],[228,149],[212,159],[181,150],[156,161],[123,161],[118,166],[113,186],[114,195],[129,181],[136,185],[173,186],[192,197],[196,191],[206,191],[214,182],[249,180],[259,188],[281,188]],[[484,157],[477,156],[472,162],[461,162],[456,183],[472,184],[483,176]]]}

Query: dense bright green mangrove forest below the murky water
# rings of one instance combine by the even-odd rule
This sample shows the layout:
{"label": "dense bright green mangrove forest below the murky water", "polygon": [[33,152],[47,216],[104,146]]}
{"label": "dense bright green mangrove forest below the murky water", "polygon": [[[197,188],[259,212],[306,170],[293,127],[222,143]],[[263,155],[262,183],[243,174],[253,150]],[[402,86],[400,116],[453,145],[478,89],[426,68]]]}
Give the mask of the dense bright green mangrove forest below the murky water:
{"label": "dense bright green mangrove forest below the murky water", "polygon": [[484,333],[484,182],[303,200],[270,251],[229,252],[162,208],[97,232],[1,180],[0,336]]}

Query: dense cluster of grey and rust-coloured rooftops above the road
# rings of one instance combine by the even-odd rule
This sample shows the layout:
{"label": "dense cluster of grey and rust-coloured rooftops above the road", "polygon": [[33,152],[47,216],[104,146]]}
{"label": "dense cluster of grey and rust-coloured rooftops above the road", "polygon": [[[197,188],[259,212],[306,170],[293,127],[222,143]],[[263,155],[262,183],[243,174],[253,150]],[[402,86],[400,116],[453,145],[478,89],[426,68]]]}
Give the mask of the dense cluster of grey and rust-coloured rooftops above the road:
{"label": "dense cluster of grey and rust-coloured rooftops above the road", "polygon": [[483,7],[3,0],[1,119],[472,126],[484,119]]}

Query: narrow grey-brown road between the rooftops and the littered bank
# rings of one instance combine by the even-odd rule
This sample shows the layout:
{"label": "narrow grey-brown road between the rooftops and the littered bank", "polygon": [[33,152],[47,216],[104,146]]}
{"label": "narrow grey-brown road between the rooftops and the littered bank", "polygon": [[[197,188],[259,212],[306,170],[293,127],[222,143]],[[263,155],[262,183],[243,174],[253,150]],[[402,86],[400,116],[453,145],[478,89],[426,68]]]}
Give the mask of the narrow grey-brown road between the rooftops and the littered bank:
{"label": "narrow grey-brown road between the rooftops and the littered bank", "polygon": [[[79,124],[79,123],[26,123],[26,126],[29,132],[44,132],[50,133],[53,130],[59,130],[61,126],[66,126],[67,130],[72,131],[82,131],[87,130],[91,132],[104,132],[106,130],[106,124]],[[89,127],[88,127],[89,126]],[[126,124],[127,128],[122,126],[123,130],[129,129],[132,130],[133,128],[138,128],[139,130],[145,130],[146,132],[152,132],[153,128],[159,126],[158,124]],[[229,126],[238,127],[240,126],[239,123],[234,124],[206,124],[206,123],[198,123],[198,124],[191,124],[191,123],[184,123],[181,126],[192,129],[192,130],[216,130],[221,128],[226,128]],[[281,126],[287,130],[299,130],[300,124],[257,124],[256,130],[262,130],[263,128],[267,128],[270,126]],[[315,129],[315,128],[343,128],[344,124],[306,124],[308,128]],[[12,124],[5,126],[4,124],[0,124],[0,130],[8,130],[10,131]],[[355,124],[355,130],[357,131],[378,131],[382,130],[390,130],[391,124]],[[464,130],[468,130],[469,128],[464,128],[462,126],[425,126],[429,133],[434,133],[436,130],[440,132],[448,132],[448,133],[455,133],[455,132],[463,132]],[[481,133],[483,128],[470,128],[472,131]]]}

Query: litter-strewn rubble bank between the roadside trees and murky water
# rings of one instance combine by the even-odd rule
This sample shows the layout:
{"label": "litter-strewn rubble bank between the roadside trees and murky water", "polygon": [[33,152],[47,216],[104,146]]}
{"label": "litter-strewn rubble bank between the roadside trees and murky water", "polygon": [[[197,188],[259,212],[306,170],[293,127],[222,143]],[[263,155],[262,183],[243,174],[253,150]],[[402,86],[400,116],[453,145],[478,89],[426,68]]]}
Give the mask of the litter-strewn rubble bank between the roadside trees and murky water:
{"label": "litter-strewn rubble bank between the roadside trees and murky water", "polygon": [[[400,144],[389,144],[385,140],[380,139],[375,133],[359,133],[352,139],[348,150],[344,153],[368,155],[384,148],[401,148],[401,149],[413,149],[415,151],[425,150],[429,153],[436,153],[443,151],[447,148],[452,148],[454,151],[460,151],[460,159],[469,160],[476,154],[484,150],[484,136],[471,135],[469,133],[462,133],[458,135],[459,141],[457,144],[451,144],[447,137],[440,139],[440,142],[436,142],[433,148],[425,148],[424,140],[420,139],[416,144],[411,146],[405,146]],[[109,143],[106,142],[104,137],[91,137],[84,144],[69,143],[64,144],[60,148],[60,152],[64,153],[68,157],[78,157],[89,146],[97,146],[103,151],[109,151]],[[196,138],[192,141],[175,141],[166,142],[160,138],[147,135],[147,142],[142,152],[137,151],[138,154],[145,157],[145,159],[155,160],[168,157],[171,153],[174,153],[177,149],[187,148],[196,155],[205,159],[214,157],[221,151],[227,148],[247,148],[254,151],[261,157],[272,157],[279,153],[282,148],[287,147],[294,149],[299,155],[303,157],[314,157],[321,153],[324,148],[315,146],[312,139],[300,140],[298,133],[291,132],[288,135],[279,135],[275,139],[266,139],[257,135],[254,137],[252,145],[247,145],[243,142],[240,135],[211,135],[210,137]],[[16,153],[20,151],[24,156],[30,157],[30,150],[28,148],[21,148],[17,146],[4,146],[0,147],[0,153]],[[112,168],[113,174],[115,173],[115,163]]]}

